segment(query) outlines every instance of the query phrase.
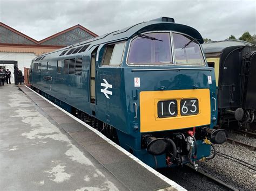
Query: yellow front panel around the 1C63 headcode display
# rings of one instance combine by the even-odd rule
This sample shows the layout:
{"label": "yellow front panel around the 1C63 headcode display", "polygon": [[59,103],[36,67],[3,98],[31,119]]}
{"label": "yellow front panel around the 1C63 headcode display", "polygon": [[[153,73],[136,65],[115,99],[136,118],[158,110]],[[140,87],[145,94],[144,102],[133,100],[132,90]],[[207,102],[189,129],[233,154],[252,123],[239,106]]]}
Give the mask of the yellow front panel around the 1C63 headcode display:
{"label": "yellow front panel around the 1C63 headcode display", "polygon": [[[194,126],[208,125],[211,122],[211,102],[209,89],[191,89],[191,90],[169,90],[169,91],[142,91],[140,92],[140,132],[166,131],[191,128]],[[170,100],[170,106],[166,112],[174,116],[161,117],[163,109],[158,103]],[[176,100],[177,102],[172,102]],[[194,102],[188,106],[185,100],[198,100],[198,104]],[[175,104],[176,105],[175,105]],[[172,110],[170,109],[172,107]],[[177,107],[174,108],[174,107]],[[196,107],[197,111],[196,111]],[[173,109],[174,108],[174,109]],[[181,115],[181,110],[188,112]],[[159,117],[160,114],[160,117]]]}

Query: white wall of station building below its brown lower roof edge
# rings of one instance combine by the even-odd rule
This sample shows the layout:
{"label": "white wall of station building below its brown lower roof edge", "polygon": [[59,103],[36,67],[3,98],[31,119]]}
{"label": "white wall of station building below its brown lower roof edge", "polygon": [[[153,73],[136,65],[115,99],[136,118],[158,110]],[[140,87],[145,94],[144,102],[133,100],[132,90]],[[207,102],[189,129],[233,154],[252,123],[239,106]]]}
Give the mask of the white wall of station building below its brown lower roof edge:
{"label": "white wall of station building below its brown lower roof edge", "polygon": [[[19,53],[19,52],[0,52],[0,60],[15,60],[18,61],[18,68],[24,75],[24,67],[29,68],[31,61],[36,55],[33,53]],[[11,71],[11,83],[14,83],[14,65],[0,64]]]}

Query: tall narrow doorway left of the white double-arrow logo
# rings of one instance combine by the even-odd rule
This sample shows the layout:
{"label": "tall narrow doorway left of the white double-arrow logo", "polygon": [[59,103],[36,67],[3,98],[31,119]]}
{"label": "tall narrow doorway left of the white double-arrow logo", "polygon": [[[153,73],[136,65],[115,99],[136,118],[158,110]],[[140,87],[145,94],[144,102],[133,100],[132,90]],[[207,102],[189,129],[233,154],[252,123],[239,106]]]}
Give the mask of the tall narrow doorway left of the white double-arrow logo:
{"label": "tall narrow doorway left of the white double-arrow logo", "polygon": [[91,68],[90,68],[90,102],[95,103],[96,99],[96,87],[95,87],[95,76],[96,76],[96,55],[97,48],[91,53]]}

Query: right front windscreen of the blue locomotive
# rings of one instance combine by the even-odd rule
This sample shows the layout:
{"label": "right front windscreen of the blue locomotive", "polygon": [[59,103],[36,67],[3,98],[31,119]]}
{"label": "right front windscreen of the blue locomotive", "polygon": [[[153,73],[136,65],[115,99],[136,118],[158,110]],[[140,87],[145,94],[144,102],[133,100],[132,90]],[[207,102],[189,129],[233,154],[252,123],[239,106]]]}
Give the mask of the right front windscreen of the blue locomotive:
{"label": "right front windscreen of the blue locomotive", "polygon": [[176,65],[205,66],[204,56],[196,39],[173,33]]}

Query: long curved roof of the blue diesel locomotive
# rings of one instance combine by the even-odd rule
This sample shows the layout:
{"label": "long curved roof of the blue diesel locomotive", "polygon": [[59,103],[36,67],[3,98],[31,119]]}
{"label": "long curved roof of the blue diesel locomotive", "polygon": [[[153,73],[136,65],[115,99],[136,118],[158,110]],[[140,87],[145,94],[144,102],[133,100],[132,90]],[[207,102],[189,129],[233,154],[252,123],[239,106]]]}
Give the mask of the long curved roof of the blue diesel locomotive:
{"label": "long curved roof of the blue diesel locomotive", "polygon": [[185,33],[185,34],[188,34],[189,36],[191,36],[192,38],[196,38],[200,44],[204,43],[204,40],[201,37],[201,34],[196,29],[194,29],[190,26],[173,23],[173,22],[162,22],[161,19],[154,19],[149,22],[138,23],[136,25],[126,27],[122,30],[107,33],[102,36],[83,41],[81,43],[73,44],[73,45],[58,49],[58,50],[50,52],[50,53],[42,54],[40,56],[48,55],[48,54],[51,54],[54,52],[64,51],[65,49],[69,49],[71,47],[75,48],[77,46],[82,46],[82,45],[86,45],[86,44],[90,44],[90,47],[88,49],[91,49],[91,47],[98,46],[100,44],[111,43],[111,42],[119,41],[119,40],[127,40],[127,39],[132,38],[132,37],[136,36],[137,34],[140,34],[143,32],[163,31],[163,30],[177,31],[177,32]]}

